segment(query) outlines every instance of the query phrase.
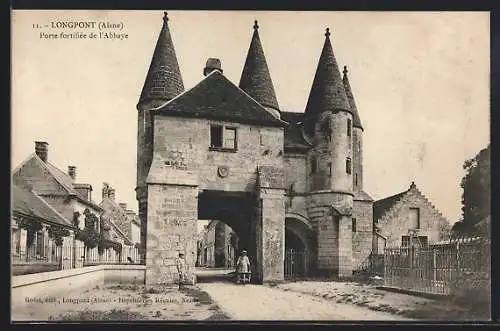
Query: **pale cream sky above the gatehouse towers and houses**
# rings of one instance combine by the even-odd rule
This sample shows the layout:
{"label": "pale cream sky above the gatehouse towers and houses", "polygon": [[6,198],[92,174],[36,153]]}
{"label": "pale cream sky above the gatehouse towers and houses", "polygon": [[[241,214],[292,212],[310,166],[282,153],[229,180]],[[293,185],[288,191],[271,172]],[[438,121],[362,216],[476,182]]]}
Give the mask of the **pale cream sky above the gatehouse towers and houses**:
{"label": "pale cream sky above the gatehouse towers and houses", "polygon": [[[162,18],[162,11],[14,11],[12,167],[34,152],[34,141],[47,141],[49,162],[76,166],[95,201],[108,182],[137,211],[136,104]],[[490,141],[488,12],[169,11],[186,89],[203,79],[209,57],[238,84],[255,19],[284,111],[304,111],[330,28],[364,126],[365,191],[381,199],[414,181],[451,223],[460,217],[463,162]],[[45,24],[75,20],[121,22],[117,32],[128,38],[40,38],[60,32]]]}

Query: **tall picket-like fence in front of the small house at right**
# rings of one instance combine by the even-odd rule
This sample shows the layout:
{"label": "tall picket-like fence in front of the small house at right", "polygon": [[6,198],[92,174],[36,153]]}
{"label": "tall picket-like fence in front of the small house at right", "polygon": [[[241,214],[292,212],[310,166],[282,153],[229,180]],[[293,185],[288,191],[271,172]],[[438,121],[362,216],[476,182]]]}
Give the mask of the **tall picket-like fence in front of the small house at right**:
{"label": "tall picket-like fence in front of the small house at right", "polygon": [[451,294],[464,275],[490,274],[490,245],[484,240],[428,247],[386,248],[384,283],[407,290]]}

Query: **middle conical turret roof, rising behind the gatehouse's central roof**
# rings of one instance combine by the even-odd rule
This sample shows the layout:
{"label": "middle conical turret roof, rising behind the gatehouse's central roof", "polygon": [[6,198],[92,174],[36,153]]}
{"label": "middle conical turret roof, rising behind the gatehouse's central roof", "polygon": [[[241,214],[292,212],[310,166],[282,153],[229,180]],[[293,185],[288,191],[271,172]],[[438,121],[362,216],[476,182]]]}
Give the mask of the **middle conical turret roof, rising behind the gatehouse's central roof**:
{"label": "middle conical turret roof, rising behind the gatehouse's central roof", "polygon": [[259,38],[257,21],[255,21],[253,29],[252,41],[239,86],[262,106],[279,111],[278,100]]}

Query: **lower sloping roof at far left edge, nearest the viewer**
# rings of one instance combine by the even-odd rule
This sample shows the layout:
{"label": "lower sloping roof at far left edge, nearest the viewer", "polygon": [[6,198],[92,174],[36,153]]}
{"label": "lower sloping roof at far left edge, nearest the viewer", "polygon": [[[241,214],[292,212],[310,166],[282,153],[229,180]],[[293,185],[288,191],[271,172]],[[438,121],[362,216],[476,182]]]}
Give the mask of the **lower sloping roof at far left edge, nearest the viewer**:
{"label": "lower sloping roof at far left edge, nearest the viewer", "polygon": [[42,222],[73,228],[64,216],[50,206],[34,191],[12,185],[12,211],[14,214],[31,217]]}

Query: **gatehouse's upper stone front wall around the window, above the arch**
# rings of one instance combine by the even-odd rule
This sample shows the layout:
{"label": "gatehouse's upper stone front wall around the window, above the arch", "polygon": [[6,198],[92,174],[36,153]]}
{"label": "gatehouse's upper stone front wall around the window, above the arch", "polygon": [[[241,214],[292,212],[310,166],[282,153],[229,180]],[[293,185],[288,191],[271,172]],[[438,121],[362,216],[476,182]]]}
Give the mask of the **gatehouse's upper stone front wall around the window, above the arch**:
{"label": "gatehouse's upper stone front wall around the window, above the arch", "polygon": [[[237,151],[209,150],[211,124],[237,128]],[[197,171],[200,189],[254,191],[258,165],[283,166],[282,128],[157,116],[154,129],[154,158],[180,160]],[[218,174],[220,166],[228,168],[226,177]]]}

